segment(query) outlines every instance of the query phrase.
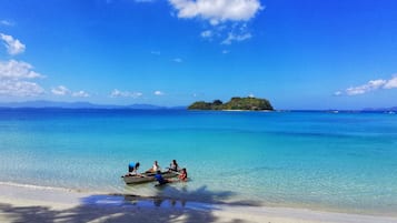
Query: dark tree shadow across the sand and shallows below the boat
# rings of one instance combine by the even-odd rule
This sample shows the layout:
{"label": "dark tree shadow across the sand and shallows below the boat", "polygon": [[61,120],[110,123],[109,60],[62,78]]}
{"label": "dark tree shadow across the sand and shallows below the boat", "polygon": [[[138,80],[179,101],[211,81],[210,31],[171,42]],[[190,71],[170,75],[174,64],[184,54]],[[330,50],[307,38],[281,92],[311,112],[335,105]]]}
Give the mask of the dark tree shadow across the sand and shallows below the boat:
{"label": "dark tree shadow across the sand and shallows below the boat", "polygon": [[[12,206],[0,203],[0,212],[11,222],[219,222],[214,211],[219,205],[259,205],[255,202],[241,201],[232,203],[219,202],[232,196],[231,192],[211,192],[206,186],[196,191],[167,187],[150,197],[129,194],[90,195],[81,199],[78,206],[67,210],[52,210],[47,206]],[[185,199],[187,197],[187,199]],[[221,221],[225,222],[225,221]],[[230,223],[240,223],[244,220],[234,219]]]}

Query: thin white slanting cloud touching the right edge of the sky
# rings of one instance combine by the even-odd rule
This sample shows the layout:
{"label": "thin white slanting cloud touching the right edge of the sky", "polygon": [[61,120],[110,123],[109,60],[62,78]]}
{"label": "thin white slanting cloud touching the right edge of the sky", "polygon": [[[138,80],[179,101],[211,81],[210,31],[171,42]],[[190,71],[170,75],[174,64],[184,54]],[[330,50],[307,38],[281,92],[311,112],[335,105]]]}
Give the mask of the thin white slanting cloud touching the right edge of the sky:
{"label": "thin white slanting cloud touching the right edge of the sky", "polygon": [[357,87],[350,87],[347,88],[344,91],[336,91],[334,95],[358,95],[358,94],[365,94],[370,91],[376,91],[380,89],[395,89],[397,88],[397,74],[394,75],[389,80],[384,80],[384,79],[377,79],[377,80],[370,80],[365,84],[357,85]]}

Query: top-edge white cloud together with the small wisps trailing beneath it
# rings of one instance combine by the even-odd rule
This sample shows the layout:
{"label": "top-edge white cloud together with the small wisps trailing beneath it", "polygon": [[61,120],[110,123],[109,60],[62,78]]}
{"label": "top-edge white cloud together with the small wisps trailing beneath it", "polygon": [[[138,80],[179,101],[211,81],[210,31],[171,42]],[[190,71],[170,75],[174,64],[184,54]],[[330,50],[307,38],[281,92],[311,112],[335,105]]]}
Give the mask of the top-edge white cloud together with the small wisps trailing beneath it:
{"label": "top-edge white cloud together with the small wisps trailing beneath it", "polygon": [[200,18],[211,28],[200,33],[206,40],[221,38],[221,44],[248,40],[247,22],[264,10],[259,0],[169,0],[182,19]]}

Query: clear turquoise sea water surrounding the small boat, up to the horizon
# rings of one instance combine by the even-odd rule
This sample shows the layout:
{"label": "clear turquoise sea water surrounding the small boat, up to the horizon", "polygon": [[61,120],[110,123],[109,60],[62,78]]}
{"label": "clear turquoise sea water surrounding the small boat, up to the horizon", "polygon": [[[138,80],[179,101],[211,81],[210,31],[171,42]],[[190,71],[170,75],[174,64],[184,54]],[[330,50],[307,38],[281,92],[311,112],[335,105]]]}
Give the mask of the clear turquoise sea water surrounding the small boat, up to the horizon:
{"label": "clear turquoise sea water surrounding the small boat, up to the horizon", "polygon": [[[0,110],[0,182],[395,214],[397,115]],[[176,159],[191,181],[126,186]]]}

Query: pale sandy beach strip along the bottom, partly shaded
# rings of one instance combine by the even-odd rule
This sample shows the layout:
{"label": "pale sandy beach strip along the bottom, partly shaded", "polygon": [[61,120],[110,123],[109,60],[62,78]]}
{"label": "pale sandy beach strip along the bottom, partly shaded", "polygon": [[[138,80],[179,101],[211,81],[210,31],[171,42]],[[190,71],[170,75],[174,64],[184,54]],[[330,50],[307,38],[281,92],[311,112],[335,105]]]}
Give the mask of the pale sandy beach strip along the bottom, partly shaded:
{"label": "pale sandy beach strip along the bottom, partly shaded", "polygon": [[397,223],[395,216],[205,204],[12,184],[1,184],[0,191],[0,222]]}

